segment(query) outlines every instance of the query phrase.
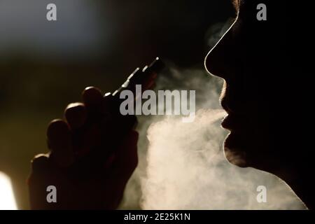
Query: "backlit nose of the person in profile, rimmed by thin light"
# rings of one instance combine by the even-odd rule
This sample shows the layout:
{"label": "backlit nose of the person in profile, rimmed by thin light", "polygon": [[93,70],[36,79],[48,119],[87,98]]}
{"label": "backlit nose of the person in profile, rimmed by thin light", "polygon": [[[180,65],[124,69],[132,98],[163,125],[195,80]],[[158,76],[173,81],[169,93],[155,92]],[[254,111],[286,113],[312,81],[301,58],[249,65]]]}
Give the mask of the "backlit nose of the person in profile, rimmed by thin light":
{"label": "backlit nose of the person in profile, rimmed by thin light", "polygon": [[232,71],[235,68],[235,61],[237,60],[235,41],[232,36],[231,25],[228,31],[221,37],[216,43],[214,48],[210,50],[206,59],[204,60],[204,66],[207,71],[214,76],[219,76],[228,80],[232,76]]}

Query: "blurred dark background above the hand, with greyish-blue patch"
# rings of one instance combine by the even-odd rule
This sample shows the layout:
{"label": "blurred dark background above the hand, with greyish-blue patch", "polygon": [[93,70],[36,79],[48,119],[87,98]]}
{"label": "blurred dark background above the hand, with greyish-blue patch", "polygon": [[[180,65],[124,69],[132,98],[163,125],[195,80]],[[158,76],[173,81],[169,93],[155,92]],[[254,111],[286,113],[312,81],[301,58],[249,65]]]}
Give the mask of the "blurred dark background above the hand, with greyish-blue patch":
{"label": "blurred dark background above the hand, with greyish-blue patch", "polygon": [[[46,20],[48,3],[57,21]],[[202,67],[209,32],[235,15],[230,0],[3,0],[0,2],[0,171],[29,209],[30,160],[45,129],[84,87],[111,92],[156,56]]]}

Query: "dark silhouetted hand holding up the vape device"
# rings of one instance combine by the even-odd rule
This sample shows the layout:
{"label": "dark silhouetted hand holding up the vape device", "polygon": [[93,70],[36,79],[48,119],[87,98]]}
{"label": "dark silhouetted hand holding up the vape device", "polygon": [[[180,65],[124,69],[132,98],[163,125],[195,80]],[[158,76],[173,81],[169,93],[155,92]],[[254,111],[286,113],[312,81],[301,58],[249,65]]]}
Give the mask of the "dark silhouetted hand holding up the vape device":
{"label": "dark silhouetted hand holding up the vape device", "polygon": [[[83,103],[69,104],[65,119],[48,125],[50,153],[36,155],[28,179],[31,209],[118,207],[137,167],[138,133],[130,129],[123,136],[110,136],[103,113],[110,108],[104,99],[97,88],[87,87]],[[115,140],[117,147],[106,148],[109,139],[120,139]],[[55,186],[57,202],[46,200],[48,186]]]}

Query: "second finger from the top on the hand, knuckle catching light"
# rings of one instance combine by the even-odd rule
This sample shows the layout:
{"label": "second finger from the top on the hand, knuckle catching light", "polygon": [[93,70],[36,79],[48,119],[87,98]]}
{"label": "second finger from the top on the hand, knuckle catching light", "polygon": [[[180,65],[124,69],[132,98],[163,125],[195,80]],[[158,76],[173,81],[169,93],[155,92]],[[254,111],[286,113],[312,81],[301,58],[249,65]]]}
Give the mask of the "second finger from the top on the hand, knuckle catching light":
{"label": "second finger from the top on the hand, knuckle catching light", "polygon": [[64,117],[71,130],[82,127],[87,120],[85,105],[82,103],[69,104],[64,111]]}

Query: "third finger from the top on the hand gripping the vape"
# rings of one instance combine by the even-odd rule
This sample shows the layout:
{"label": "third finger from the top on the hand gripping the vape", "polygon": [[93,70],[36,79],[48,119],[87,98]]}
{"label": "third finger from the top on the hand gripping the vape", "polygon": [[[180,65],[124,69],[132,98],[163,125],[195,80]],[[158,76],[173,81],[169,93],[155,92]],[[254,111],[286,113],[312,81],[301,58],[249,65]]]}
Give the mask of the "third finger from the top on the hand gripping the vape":
{"label": "third finger from the top on the hand gripping the vape", "polygon": [[47,129],[47,143],[50,149],[50,158],[57,165],[66,167],[73,162],[71,133],[69,125],[64,120],[52,120]]}

